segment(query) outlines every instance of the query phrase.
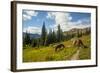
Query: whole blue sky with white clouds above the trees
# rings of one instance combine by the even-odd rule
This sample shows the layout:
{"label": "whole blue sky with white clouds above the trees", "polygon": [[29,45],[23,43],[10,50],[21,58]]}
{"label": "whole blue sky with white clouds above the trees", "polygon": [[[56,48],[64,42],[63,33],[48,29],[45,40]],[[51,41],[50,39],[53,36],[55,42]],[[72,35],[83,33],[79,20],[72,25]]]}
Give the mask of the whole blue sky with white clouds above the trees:
{"label": "whole blue sky with white clouds above the trees", "polygon": [[56,31],[58,25],[61,26],[63,31],[68,31],[72,28],[90,27],[91,14],[37,10],[22,11],[23,32],[40,34],[43,22],[45,22],[48,31],[49,29]]}

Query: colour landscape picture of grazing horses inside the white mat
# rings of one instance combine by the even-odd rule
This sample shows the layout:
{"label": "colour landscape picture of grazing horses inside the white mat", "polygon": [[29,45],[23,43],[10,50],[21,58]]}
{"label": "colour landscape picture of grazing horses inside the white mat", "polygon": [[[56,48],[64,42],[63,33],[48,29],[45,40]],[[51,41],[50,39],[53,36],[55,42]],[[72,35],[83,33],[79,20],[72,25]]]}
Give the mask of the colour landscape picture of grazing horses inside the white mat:
{"label": "colour landscape picture of grazing horses inside the white mat", "polygon": [[91,13],[22,10],[22,60],[91,59]]}

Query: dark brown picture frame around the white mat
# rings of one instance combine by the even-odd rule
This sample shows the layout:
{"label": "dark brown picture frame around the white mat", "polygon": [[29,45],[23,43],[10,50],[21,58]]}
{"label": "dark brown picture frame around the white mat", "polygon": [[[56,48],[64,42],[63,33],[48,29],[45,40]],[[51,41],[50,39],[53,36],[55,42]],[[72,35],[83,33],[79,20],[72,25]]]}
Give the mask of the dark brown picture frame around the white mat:
{"label": "dark brown picture frame around the white mat", "polygon": [[[27,5],[44,5],[44,6],[59,6],[59,7],[77,7],[77,8],[93,8],[96,10],[96,22],[95,22],[95,64],[94,65],[82,65],[82,66],[64,66],[64,67],[50,67],[50,68],[31,68],[31,69],[17,69],[17,4]],[[98,8],[97,6],[89,5],[74,5],[74,4],[57,4],[57,3],[42,3],[42,2],[27,2],[27,1],[12,1],[11,2],[11,71],[37,71],[37,70],[52,70],[52,69],[69,69],[69,68],[84,68],[84,67],[96,67],[98,65]]]}

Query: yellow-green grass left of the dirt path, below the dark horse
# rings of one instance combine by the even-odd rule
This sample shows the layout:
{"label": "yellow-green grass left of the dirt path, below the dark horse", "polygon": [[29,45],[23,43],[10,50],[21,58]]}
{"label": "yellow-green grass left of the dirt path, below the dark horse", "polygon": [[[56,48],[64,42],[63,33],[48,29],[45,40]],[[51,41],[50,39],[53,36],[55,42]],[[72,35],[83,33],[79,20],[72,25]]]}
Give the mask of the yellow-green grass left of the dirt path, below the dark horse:
{"label": "yellow-green grass left of the dirt path, below the dark horse", "polygon": [[24,49],[23,62],[68,60],[75,51],[77,51],[77,48],[64,48],[64,50],[59,52],[55,52],[54,48],[52,47],[43,47],[41,49]]}

